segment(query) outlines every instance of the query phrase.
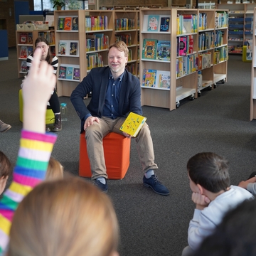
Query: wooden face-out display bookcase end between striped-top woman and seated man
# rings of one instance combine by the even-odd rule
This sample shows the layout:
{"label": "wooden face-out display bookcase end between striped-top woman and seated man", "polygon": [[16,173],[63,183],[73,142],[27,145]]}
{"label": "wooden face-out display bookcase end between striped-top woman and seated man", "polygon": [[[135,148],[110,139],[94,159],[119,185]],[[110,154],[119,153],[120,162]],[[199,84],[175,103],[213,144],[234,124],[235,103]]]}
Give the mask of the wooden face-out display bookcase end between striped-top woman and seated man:
{"label": "wooden face-out display bookcase end between striped-top woman and seated man", "polygon": [[[70,17],[78,21],[78,28],[62,30],[59,25],[60,18]],[[59,27],[60,26],[60,27]],[[80,69],[80,78],[85,77],[86,55],[85,55],[85,13],[83,10],[54,11],[55,27],[55,54],[59,60],[57,70],[57,92],[58,96],[70,96],[80,82],[74,79],[74,71]],[[71,54],[71,44],[76,43],[77,52]],[[82,68],[81,68],[82,67]],[[63,73],[62,73],[63,71]],[[68,72],[68,77],[65,76]],[[73,72],[70,74],[70,72]],[[76,71],[75,71],[76,73]],[[79,77],[79,75],[78,75]]]}

